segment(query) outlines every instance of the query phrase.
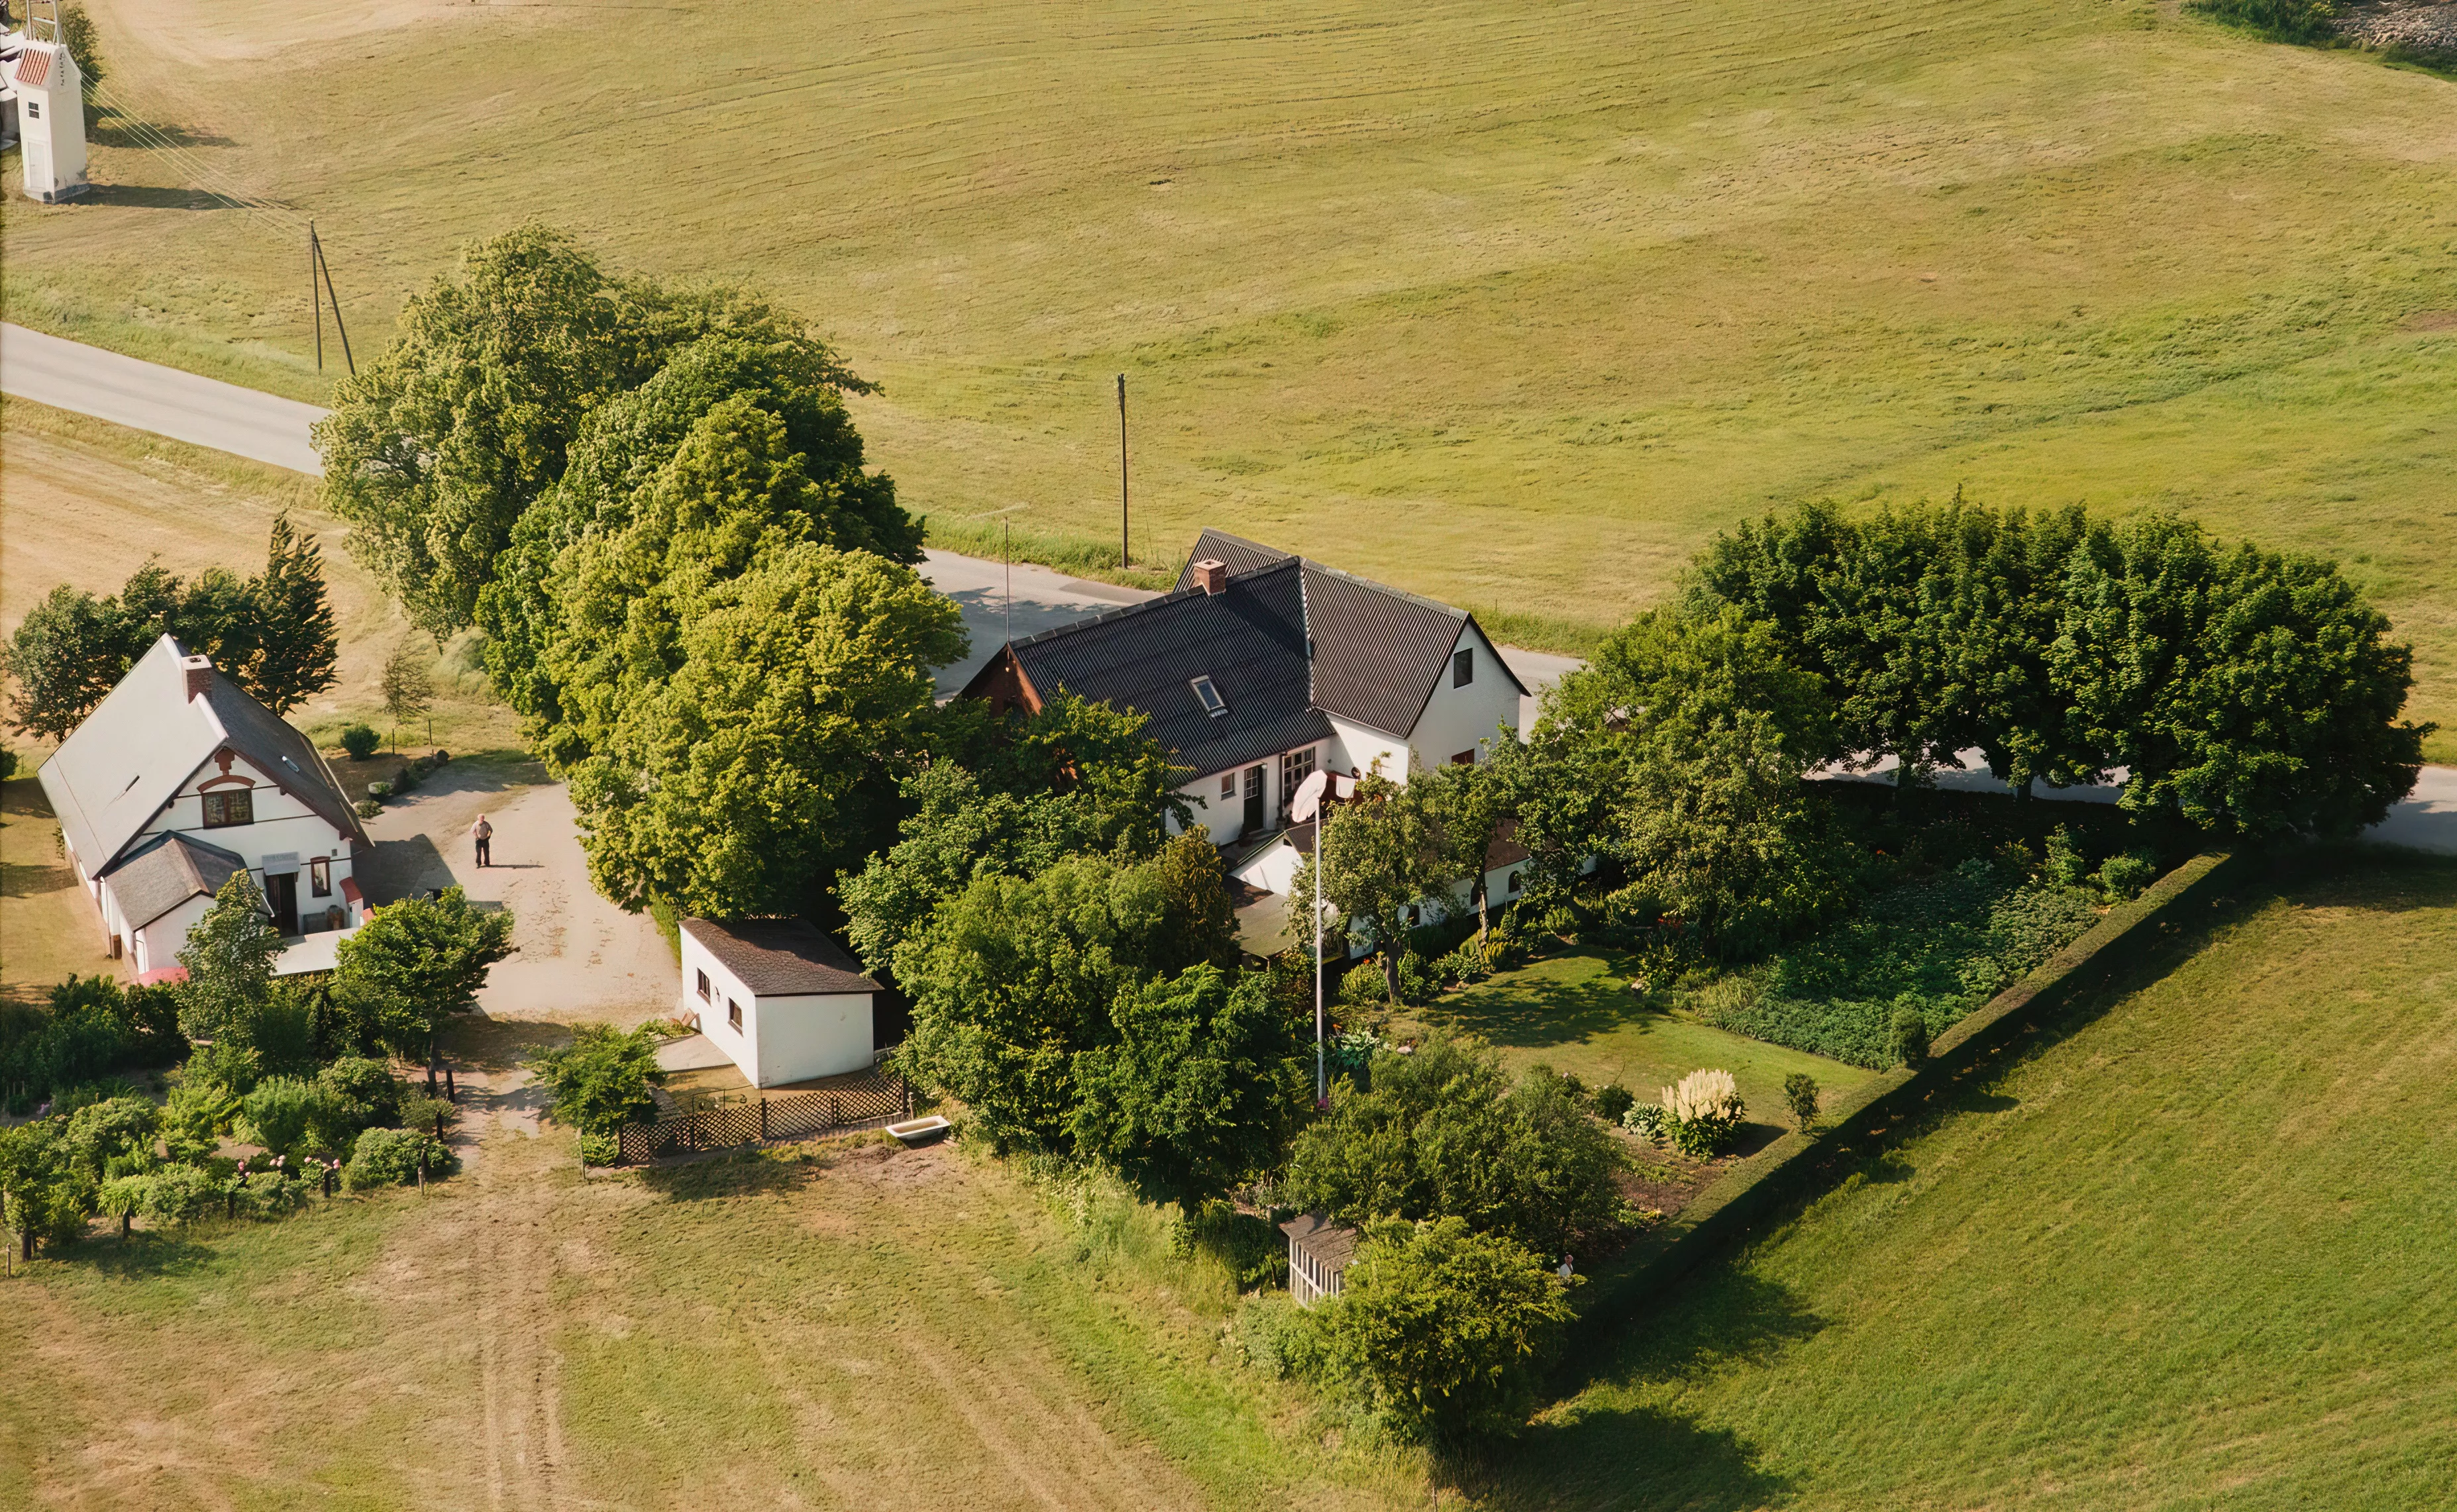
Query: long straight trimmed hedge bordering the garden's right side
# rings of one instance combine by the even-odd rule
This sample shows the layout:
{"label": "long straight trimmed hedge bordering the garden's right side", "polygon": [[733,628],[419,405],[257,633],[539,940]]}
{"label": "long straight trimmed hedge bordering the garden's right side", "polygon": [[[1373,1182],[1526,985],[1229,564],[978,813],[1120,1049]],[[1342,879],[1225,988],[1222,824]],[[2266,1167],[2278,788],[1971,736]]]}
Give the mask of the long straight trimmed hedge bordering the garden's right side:
{"label": "long straight trimmed hedge bordering the garden's right side", "polygon": [[[2115,967],[2130,962],[2157,940],[2162,925],[2170,923],[2167,916],[2182,913],[2187,903],[2221,891],[2233,871],[2233,857],[2226,852],[2204,852],[2184,862],[2140,898],[2108,913],[2039,970],[1936,1036],[1926,1063],[1916,1068],[1897,1065],[1870,1078],[1826,1112],[1826,1122],[1816,1134],[1784,1134],[1725,1171],[1688,1208],[1614,1257],[1612,1264],[1597,1267],[1580,1298],[1585,1321],[1624,1321],[1639,1303],[1671,1286],[1720,1244],[1749,1232],[1754,1222],[1784,1203],[1806,1195],[1818,1171],[1828,1168],[1826,1156],[1840,1144],[1877,1134],[1899,1122],[1916,1105],[1968,1075],[1980,1060],[2037,1028],[2047,1014],[2061,1009],[2076,992],[2106,982]],[[1582,1333],[1585,1338],[1602,1338],[1602,1330],[1595,1328]]]}

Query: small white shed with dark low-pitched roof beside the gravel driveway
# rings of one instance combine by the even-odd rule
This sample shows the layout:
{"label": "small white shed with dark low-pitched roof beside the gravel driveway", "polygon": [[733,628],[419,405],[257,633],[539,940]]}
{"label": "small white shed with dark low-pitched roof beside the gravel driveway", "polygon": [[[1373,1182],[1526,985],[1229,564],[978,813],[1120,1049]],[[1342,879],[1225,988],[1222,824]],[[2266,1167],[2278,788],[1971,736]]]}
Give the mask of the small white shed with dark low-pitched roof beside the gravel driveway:
{"label": "small white shed with dark low-pitched roof beside the gravel driveway", "polygon": [[799,918],[683,920],[683,1011],[754,1087],[867,1068],[880,984]]}

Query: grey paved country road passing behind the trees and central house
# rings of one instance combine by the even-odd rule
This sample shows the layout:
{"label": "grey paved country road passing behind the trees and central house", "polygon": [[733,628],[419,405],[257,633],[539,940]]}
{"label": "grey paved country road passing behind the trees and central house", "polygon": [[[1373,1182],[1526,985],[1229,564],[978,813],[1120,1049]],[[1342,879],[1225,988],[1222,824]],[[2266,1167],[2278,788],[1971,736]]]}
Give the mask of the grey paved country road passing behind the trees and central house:
{"label": "grey paved country road passing behind the trees and central house", "polygon": [[[273,466],[322,474],[307,427],[324,410],[275,398],[236,383],[197,378],[177,368],[138,361],[98,346],[61,341],[25,326],[0,324],[0,393],[59,410],[96,415],[133,430],[150,430],[179,442],[236,452]],[[1012,596],[1007,569],[980,557],[929,552],[921,572],[963,609],[963,628],[973,633],[973,655],[939,675],[939,692],[953,692],[1007,641],[1047,631],[1103,609],[1140,604],[1152,594],[1106,582],[1066,577],[1049,567],[1015,565]],[[1010,621],[1012,616],[1012,621]],[[1543,687],[1577,663],[1565,655],[1504,646],[1511,668],[1528,687]],[[1988,785],[1985,773],[1951,785]],[[2088,798],[2103,798],[2106,790]],[[2076,798],[2084,798],[2076,793]],[[2388,822],[2371,830],[2373,839],[2415,849],[2457,854],[2457,768],[2425,766],[2413,795],[2391,810]]]}

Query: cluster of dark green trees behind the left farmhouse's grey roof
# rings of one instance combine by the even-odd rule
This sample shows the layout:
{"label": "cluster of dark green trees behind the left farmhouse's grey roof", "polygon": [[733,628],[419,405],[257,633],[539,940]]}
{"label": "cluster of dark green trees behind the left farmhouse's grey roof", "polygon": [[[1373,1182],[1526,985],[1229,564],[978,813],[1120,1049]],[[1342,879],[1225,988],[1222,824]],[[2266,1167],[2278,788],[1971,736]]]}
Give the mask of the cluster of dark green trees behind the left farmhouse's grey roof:
{"label": "cluster of dark green trees behind the left farmhouse's grey roof", "polygon": [[118,687],[165,633],[285,714],[334,685],[337,636],[324,596],[324,550],[275,515],[265,569],[238,577],[209,567],[192,579],[160,562],[115,596],[54,587],[20,621],[5,650],[10,724],[61,741]]}

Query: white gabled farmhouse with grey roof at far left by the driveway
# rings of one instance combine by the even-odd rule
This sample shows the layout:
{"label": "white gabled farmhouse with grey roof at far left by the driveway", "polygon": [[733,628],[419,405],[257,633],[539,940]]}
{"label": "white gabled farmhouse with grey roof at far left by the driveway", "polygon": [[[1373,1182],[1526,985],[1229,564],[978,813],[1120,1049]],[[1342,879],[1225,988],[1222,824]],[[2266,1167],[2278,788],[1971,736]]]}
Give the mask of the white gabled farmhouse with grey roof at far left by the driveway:
{"label": "white gabled farmhouse with grey roof at far left by the driveway", "polygon": [[42,763],[113,960],[177,965],[214,891],[253,871],[283,935],[356,928],[366,830],[314,741],[170,636]]}

